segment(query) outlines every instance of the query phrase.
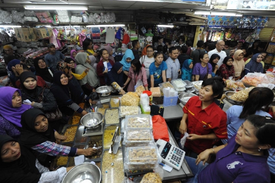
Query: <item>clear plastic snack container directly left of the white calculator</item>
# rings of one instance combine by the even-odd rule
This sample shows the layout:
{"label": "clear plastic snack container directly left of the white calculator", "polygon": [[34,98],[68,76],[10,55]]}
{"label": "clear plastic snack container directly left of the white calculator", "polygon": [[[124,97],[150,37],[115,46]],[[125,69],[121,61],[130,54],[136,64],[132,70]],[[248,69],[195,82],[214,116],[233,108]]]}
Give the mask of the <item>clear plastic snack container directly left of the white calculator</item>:
{"label": "clear plastic snack container directly left of the white calculator", "polygon": [[124,167],[126,170],[150,170],[158,167],[158,150],[154,145],[126,147]]}

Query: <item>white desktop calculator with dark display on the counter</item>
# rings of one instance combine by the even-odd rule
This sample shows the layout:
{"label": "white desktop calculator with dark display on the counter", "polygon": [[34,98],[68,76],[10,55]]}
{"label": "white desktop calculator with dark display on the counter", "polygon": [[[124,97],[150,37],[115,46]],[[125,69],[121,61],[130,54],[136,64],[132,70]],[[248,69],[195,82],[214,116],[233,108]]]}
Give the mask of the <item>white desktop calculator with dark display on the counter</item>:
{"label": "white desktop calculator with dark display on the counter", "polygon": [[162,139],[158,139],[156,144],[161,155],[162,162],[175,168],[176,170],[179,170],[184,160],[185,152]]}

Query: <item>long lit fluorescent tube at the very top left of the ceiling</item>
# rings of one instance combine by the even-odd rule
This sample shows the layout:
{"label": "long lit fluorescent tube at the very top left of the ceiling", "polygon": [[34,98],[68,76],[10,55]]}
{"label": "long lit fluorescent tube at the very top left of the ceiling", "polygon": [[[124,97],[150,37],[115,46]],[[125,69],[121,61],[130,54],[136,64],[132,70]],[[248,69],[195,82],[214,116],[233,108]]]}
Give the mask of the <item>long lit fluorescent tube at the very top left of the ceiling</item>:
{"label": "long lit fluorescent tube at the very top left of the ceiling", "polygon": [[26,10],[88,10],[87,6],[51,6],[51,5],[35,5],[35,6],[24,6]]}

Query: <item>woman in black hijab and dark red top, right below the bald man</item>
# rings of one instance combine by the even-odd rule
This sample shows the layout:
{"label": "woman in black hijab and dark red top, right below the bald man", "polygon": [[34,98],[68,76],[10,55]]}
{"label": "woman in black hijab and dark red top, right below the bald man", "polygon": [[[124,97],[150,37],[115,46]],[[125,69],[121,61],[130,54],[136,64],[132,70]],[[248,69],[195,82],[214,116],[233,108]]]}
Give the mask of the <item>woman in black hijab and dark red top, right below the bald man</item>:
{"label": "woman in black hijab and dark red top, right below the bald man", "polygon": [[234,59],[230,56],[226,57],[221,67],[219,67],[219,76],[227,80],[229,77],[235,78],[235,69],[233,65]]}

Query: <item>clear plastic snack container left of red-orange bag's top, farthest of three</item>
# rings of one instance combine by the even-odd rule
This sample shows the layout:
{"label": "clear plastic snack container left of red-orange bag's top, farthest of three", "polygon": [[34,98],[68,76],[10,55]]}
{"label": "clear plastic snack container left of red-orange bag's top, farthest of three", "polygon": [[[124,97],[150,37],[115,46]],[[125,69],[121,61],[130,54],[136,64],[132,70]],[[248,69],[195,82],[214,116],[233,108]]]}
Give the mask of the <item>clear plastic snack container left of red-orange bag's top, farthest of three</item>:
{"label": "clear plastic snack container left of red-orange bag's top, farthest of three", "polygon": [[125,129],[127,128],[153,128],[152,117],[149,114],[128,115],[125,117]]}

